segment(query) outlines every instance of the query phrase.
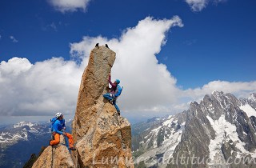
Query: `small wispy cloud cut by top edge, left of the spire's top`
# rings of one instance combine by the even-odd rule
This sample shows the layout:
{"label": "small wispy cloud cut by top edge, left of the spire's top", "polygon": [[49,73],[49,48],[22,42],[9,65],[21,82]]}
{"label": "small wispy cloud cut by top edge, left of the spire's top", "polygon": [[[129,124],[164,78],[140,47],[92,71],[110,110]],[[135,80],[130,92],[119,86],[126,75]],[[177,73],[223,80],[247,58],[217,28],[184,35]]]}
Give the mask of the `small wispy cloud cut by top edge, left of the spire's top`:
{"label": "small wispy cloud cut by top edge, left of the spire's top", "polygon": [[86,10],[90,0],[48,0],[56,10],[65,12],[74,12],[77,10]]}

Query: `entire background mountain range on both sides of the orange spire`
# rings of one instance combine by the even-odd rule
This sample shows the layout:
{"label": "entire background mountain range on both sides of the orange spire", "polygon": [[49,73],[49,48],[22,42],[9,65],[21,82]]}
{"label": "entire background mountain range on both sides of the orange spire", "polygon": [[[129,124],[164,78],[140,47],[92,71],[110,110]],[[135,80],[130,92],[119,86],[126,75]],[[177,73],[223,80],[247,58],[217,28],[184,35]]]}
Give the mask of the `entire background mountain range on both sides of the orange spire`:
{"label": "entire background mountain range on both sides of the orange spire", "polygon": [[[182,113],[134,124],[135,167],[256,167],[255,116],[256,94],[238,99],[214,91]],[[31,122],[1,127],[0,167],[22,167],[48,146],[49,129]]]}

